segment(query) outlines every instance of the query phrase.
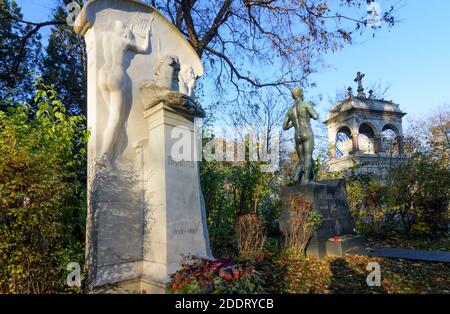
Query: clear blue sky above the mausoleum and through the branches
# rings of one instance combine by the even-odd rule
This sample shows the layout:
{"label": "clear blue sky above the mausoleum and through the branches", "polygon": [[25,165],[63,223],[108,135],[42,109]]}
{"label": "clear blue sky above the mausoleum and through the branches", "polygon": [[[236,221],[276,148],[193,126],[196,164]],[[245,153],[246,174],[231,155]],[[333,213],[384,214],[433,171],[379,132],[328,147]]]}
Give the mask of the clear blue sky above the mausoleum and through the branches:
{"label": "clear blue sky above the mausoleum and through the branches", "polygon": [[[16,1],[26,19],[40,21],[49,17],[55,0]],[[373,39],[355,36],[356,44],[326,55],[328,67],[311,77],[317,87],[307,96],[321,95],[324,108],[336,90],[350,85],[356,90],[353,79],[362,71],[366,85],[390,83],[388,99],[411,117],[450,105],[450,1],[403,0],[403,4],[397,13],[401,21],[394,28],[377,31]]]}

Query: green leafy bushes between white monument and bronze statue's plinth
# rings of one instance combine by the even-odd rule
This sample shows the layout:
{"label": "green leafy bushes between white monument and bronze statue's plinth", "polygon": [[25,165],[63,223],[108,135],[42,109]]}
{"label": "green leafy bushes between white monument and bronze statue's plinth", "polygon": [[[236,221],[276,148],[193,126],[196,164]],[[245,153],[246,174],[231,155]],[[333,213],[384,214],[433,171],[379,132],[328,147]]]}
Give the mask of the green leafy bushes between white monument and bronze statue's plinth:
{"label": "green leafy bushes between white monument and bronze statue's plinth", "polygon": [[266,227],[276,229],[279,200],[275,175],[262,171],[262,163],[246,161],[203,161],[201,184],[205,197],[213,248],[236,254],[236,225],[239,218],[254,214]]}

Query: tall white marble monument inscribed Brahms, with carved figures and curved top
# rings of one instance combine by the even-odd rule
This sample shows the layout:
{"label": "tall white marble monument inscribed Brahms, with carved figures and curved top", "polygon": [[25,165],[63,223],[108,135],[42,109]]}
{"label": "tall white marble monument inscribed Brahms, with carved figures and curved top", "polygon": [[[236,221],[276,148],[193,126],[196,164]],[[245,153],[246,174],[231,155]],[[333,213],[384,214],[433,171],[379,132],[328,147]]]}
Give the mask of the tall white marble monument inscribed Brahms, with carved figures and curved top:
{"label": "tall white marble monument inscribed Brahms, with carved figures and curved top", "polygon": [[211,258],[195,158],[201,61],[138,1],[90,0],[74,28],[88,53],[88,284],[165,292],[183,255]]}

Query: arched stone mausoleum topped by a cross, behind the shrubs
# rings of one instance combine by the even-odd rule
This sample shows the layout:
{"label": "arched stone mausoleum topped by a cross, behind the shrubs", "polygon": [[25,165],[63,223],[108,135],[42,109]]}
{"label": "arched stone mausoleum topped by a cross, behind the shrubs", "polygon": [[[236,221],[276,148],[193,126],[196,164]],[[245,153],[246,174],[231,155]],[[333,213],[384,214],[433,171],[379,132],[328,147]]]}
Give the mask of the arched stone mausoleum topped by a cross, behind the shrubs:
{"label": "arched stone mausoleum topped by a cross, behind the shrubs", "polygon": [[357,95],[349,87],[347,97],[329,111],[324,122],[332,157],[328,166],[330,171],[371,172],[383,180],[391,166],[408,158],[402,127],[406,113],[392,101],[377,99],[372,90],[367,96],[363,78],[358,72]]}

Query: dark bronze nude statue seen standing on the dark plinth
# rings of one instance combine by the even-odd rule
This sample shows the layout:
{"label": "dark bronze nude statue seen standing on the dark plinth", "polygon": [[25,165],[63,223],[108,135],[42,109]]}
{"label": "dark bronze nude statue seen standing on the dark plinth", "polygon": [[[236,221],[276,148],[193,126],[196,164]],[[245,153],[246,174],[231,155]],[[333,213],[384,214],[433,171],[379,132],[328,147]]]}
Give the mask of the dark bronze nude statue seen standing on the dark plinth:
{"label": "dark bronze nude statue seen standing on the dark plinth", "polygon": [[289,109],[284,120],[283,129],[295,129],[295,149],[298,155],[298,164],[295,167],[295,181],[300,184],[311,182],[314,150],[314,133],[311,128],[311,118],[319,119],[313,106],[303,101],[303,89],[292,89],[292,98],[295,103]]}

